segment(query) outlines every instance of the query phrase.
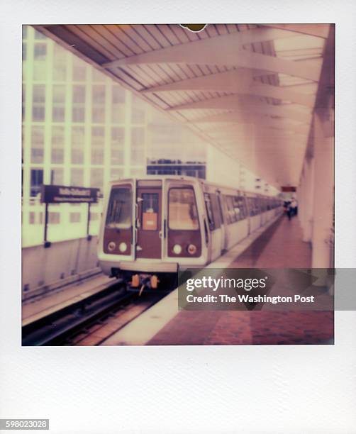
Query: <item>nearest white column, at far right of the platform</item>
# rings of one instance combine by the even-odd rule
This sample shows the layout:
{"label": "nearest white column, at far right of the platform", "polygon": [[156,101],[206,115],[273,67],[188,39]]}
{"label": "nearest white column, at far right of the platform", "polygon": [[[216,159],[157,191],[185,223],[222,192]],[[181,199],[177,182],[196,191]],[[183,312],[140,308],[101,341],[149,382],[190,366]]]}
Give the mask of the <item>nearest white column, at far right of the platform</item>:
{"label": "nearest white column, at far right of the platform", "polygon": [[327,113],[314,115],[313,255],[312,267],[330,267],[330,231],[333,227],[333,137],[326,137]]}

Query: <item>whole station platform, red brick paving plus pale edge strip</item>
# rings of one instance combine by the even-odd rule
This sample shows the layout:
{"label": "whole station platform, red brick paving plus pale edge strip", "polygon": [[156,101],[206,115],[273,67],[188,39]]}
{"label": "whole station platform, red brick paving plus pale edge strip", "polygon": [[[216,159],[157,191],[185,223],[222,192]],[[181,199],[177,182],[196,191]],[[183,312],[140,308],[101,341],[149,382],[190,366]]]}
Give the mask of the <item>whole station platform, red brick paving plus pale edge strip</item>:
{"label": "whole station platform, red brick paving plus pale edge strip", "polygon": [[[310,268],[299,219],[281,216],[208,268]],[[333,343],[330,311],[178,311],[177,290],[102,345]]]}

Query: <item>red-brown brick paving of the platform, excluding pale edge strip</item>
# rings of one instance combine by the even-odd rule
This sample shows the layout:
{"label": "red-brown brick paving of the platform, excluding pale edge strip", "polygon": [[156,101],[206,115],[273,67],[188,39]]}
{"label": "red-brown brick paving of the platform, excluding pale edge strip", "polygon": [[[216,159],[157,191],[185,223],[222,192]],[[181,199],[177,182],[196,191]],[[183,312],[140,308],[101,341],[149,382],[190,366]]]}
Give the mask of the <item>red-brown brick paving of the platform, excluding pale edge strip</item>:
{"label": "red-brown brick paving of the platform, excluding pale edge strip", "polygon": [[[272,224],[230,267],[311,267],[298,218]],[[333,343],[333,312],[180,311],[147,345],[328,343]]]}

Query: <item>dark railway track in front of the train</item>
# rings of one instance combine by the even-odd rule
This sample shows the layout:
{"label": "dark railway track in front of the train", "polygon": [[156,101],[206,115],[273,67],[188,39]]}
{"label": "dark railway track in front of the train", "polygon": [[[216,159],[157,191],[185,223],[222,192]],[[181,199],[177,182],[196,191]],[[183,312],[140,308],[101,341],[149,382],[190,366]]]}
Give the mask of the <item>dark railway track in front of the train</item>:
{"label": "dark railway track in front of the train", "polygon": [[[144,293],[145,294],[145,293]],[[162,299],[162,294],[139,297],[127,292],[121,282],[50,313],[22,328],[22,345],[100,345],[112,333]],[[117,321],[121,317],[120,321]],[[116,320],[116,321],[115,321]],[[115,324],[111,324],[113,321]],[[98,332],[101,329],[101,332]]]}

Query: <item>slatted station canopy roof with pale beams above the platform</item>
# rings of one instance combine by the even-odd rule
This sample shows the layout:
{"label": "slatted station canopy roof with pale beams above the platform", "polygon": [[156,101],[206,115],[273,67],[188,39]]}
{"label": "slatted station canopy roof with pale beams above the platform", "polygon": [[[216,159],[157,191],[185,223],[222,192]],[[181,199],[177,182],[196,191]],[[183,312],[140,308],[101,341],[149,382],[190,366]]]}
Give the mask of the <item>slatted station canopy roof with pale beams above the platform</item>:
{"label": "slatted station canopy roof with pale beams above the platform", "polygon": [[271,184],[298,184],[317,99],[333,92],[333,26],[35,28]]}

